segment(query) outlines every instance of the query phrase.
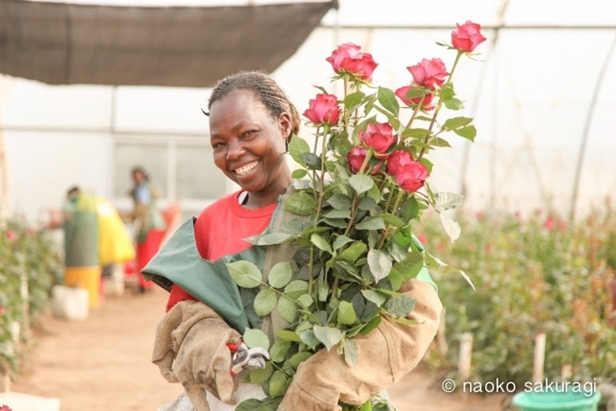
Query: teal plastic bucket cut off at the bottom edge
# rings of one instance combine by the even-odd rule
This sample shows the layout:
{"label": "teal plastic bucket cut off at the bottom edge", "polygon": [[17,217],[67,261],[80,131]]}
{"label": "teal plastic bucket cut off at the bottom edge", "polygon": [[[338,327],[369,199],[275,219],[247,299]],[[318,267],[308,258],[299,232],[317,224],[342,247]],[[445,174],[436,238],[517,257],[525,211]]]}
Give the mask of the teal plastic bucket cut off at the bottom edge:
{"label": "teal plastic bucket cut off at the bottom edge", "polygon": [[511,400],[522,411],[597,411],[601,393],[517,393]]}

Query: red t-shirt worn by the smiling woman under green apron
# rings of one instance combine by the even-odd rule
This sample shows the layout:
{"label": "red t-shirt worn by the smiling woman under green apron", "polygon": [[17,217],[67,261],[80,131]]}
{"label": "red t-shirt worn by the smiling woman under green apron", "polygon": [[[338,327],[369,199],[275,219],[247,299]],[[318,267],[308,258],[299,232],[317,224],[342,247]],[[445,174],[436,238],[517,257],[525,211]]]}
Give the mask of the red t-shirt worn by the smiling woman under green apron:
{"label": "red t-shirt worn by the smiling woman under green apron", "polygon": [[[196,247],[205,260],[240,253],[252,247],[244,238],[260,234],[270,223],[277,203],[266,208],[245,208],[238,197],[242,191],[225,195],[207,206],[194,223]],[[167,311],[179,301],[195,299],[179,286],[172,286]]]}

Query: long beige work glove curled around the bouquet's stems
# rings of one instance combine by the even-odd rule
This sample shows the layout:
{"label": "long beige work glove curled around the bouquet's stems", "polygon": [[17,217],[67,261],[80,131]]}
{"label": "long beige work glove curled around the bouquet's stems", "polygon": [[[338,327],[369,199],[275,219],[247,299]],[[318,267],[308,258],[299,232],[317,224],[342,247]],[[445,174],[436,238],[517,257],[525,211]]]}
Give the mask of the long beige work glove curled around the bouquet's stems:
{"label": "long beige work glove curled around the bouquet's stems", "polygon": [[320,349],[298,366],[278,411],[339,411],[338,401],[360,405],[411,371],[437,332],[442,305],[433,286],[419,279],[405,282],[400,292],[415,299],[407,316],[415,325],[383,319],[368,335],[355,336],[355,366],[346,364],[337,345]]}

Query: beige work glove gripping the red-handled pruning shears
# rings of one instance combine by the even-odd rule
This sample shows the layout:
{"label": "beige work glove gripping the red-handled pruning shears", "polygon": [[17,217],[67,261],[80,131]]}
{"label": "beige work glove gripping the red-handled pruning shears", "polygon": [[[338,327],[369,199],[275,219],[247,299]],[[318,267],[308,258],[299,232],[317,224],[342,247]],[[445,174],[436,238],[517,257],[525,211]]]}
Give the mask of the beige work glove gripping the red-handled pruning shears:
{"label": "beige work glove gripping the red-handled pruning shears", "polygon": [[200,301],[180,301],[158,324],[152,362],[169,382],[181,382],[195,411],[209,411],[205,391],[235,403],[228,343],[240,333]]}

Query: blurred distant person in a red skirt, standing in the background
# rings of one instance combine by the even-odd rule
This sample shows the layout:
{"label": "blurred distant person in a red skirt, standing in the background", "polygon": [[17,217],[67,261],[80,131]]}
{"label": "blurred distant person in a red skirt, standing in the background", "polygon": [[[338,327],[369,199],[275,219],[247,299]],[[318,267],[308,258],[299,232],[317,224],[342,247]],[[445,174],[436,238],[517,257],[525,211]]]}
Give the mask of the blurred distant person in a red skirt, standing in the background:
{"label": "blurred distant person in a red skirt, standing in the background", "polygon": [[158,190],[150,183],[145,170],[136,166],[132,169],[133,188],[130,192],[134,208],[131,220],[136,225],[136,262],[139,290],[145,292],[154,286],[140,274],[140,271],[158,251],[165,234],[165,222],[157,208]]}

